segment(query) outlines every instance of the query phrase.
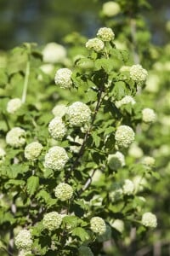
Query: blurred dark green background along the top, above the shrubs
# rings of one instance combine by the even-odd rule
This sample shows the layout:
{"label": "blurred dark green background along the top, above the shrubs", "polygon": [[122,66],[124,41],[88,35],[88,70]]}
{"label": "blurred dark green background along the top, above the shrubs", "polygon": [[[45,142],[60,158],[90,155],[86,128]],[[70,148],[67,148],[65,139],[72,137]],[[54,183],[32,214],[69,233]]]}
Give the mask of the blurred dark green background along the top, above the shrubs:
{"label": "blurred dark green background along the top, above the shrubs", "polygon": [[[128,1],[128,0],[127,0]],[[105,0],[0,0],[0,49],[23,42],[62,42],[71,32],[92,37],[102,26],[99,11]],[[166,44],[169,0],[150,0],[144,12],[154,44]]]}

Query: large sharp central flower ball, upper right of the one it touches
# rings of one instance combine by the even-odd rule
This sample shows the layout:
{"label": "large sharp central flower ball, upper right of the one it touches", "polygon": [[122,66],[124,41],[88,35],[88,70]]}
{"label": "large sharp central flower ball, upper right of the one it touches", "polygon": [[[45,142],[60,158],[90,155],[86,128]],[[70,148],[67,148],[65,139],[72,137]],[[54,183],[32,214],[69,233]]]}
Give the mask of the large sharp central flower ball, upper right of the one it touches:
{"label": "large sharp central flower ball, upper right of the one it touches", "polygon": [[67,115],[71,126],[82,126],[89,123],[91,110],[82,102],[74,102],[68,107]]}

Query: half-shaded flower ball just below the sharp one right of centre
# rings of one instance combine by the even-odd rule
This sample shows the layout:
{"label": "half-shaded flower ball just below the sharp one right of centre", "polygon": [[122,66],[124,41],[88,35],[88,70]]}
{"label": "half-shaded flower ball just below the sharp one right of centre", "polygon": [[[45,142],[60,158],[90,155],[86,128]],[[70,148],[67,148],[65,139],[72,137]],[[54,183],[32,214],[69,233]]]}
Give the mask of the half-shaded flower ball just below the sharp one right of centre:
{"label": "half-shaded flower ball just below the sharp one right of centre", "polygon": [[117,170],[122,166],[125,166],[125,157],[119,151],[117,151],[116,154],[109,154],[107,161],[111,170]]}

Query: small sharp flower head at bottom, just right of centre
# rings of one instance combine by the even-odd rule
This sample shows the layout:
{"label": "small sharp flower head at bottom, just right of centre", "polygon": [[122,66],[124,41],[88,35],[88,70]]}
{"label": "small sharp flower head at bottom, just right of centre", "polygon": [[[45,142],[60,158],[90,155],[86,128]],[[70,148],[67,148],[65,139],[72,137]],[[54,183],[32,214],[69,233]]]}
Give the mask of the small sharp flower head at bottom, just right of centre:
{"label": "small sharp flower head at bottom, just right of centre", "polygon": [[105,233],[106,227],[105,227],[105,220],[100,217],[94,217],[90,220],[90,229],[98,234],[103,235]]}

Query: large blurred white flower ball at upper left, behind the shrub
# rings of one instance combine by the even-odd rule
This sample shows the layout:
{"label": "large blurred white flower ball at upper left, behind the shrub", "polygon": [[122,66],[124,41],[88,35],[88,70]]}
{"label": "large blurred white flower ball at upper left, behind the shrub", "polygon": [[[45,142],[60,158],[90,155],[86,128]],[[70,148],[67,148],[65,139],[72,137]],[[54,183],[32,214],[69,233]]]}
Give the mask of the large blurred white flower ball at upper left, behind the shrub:
{"label": "large blurred white flower ball at upper left, behind the shrub", "polygon": [[44,62],[57,63],[63,61],[66,57],[66,50],[63,45],[56,43],[48,43],[42,50]]}

